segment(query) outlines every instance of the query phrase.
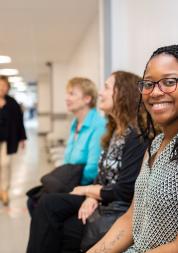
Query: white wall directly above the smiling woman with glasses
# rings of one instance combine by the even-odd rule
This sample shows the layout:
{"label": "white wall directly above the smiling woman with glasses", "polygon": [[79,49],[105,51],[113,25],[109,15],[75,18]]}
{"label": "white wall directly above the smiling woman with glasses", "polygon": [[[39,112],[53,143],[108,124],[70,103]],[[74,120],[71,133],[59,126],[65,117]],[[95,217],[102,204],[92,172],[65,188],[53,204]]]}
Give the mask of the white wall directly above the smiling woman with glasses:
{"label": "white wall directly above the smiling woman with glasses", "polygon": [[178,43],[178,1],[111,1],[112,70],[142,74],[155,49]]}

